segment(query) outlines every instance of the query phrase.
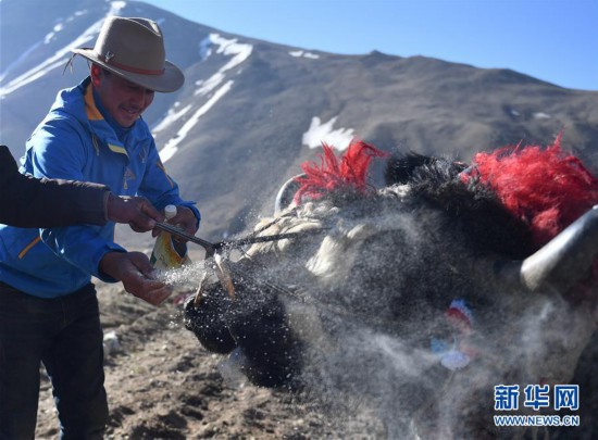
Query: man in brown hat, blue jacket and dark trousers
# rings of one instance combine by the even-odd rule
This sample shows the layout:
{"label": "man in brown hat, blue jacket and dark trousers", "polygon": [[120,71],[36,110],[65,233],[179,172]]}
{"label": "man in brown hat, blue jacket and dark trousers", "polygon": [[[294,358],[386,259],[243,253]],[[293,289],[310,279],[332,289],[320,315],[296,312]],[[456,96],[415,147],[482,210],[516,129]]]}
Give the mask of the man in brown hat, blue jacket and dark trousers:
{"label": "man in brown hat, blue jacket and dark trousers", "polygon": [[[95,181],[120,196],[177,205],[173,223],[194,235],[199,212],[184,201],[141,118],[154,91],[183,86],[165,60],[158,25],[109,17],[91,49],[90,76],[62,90],[27,141],[24,171],[38,178]],[[146,254],[113,242],[114,224],[20,229],[0,226],[0,438],[33,438],[39,363],[52,381],[64,438],[99,438],[108,404],[102,330],[91,275],[121,281],[152,304],[170,294]]]}

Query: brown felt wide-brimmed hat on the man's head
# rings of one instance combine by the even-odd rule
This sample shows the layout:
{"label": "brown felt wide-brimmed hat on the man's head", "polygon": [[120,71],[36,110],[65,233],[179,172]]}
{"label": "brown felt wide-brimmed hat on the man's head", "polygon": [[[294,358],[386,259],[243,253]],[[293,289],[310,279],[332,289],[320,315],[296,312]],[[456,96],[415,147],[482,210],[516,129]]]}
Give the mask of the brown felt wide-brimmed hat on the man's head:
{"label": "brown felt wide-brimmed hat on the man's head", "polygon": [[110,16],[94,48],[73,52],[151,90],[175,91],[185,83],[183,72],[166,61],[160,27],[148,18]]}

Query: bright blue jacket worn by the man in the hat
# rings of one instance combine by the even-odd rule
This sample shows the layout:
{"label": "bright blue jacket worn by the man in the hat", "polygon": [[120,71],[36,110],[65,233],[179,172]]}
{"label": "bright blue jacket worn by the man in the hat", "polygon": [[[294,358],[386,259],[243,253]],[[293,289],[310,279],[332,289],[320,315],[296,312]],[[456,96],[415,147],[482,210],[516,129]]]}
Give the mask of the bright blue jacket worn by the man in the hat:
{"label": "bright blue jacket worn by the man in the hat", "polygon": [[[121,142],[94,101],[89,77],[58,93],[54,104],[27,141],[22,172],[35,177],[103,184],[121,196],[144,196],[158,210],[167,204],[194,210],[166,174],[146,122],[138,120]],[[114,243],[114,223],[23,229],[0,225],[0,281],[40,298],[65,296],[99,273]]]}

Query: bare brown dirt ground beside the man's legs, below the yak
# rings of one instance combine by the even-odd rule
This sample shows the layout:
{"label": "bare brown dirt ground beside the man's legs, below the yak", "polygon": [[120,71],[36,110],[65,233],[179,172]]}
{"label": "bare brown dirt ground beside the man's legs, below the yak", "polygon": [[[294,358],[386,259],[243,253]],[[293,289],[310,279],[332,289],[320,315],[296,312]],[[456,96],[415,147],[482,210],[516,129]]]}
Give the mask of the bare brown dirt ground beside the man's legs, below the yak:
{"label": "bare brown dirt ground beside the man's legs, below the yak", "polygon": [[[153,307],[122,289],[96,282],[108,351],[109,439],[379,438],[384,428],[365,415],[350,418],[286,391],[223,377],[221,355],[205,351],[183,326],[180,296]],[[42,375],[37,436],[58,437],[51,385]]]}

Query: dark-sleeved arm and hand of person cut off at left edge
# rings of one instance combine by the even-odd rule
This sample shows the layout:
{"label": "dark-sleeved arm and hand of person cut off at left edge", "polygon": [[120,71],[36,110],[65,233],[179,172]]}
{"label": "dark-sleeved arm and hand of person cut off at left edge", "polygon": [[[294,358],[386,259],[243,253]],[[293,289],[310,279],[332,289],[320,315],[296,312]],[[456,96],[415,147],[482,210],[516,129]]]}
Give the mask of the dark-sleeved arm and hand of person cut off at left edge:
{"label": "dark-sleeved arm and hand of person cut off at left edge", "polygon": [[5,146],[0,146],[0,223],[23,228],[111,221],[145,232],[164,219],[147,199],[116,197],[104,185],[25,176]]}

